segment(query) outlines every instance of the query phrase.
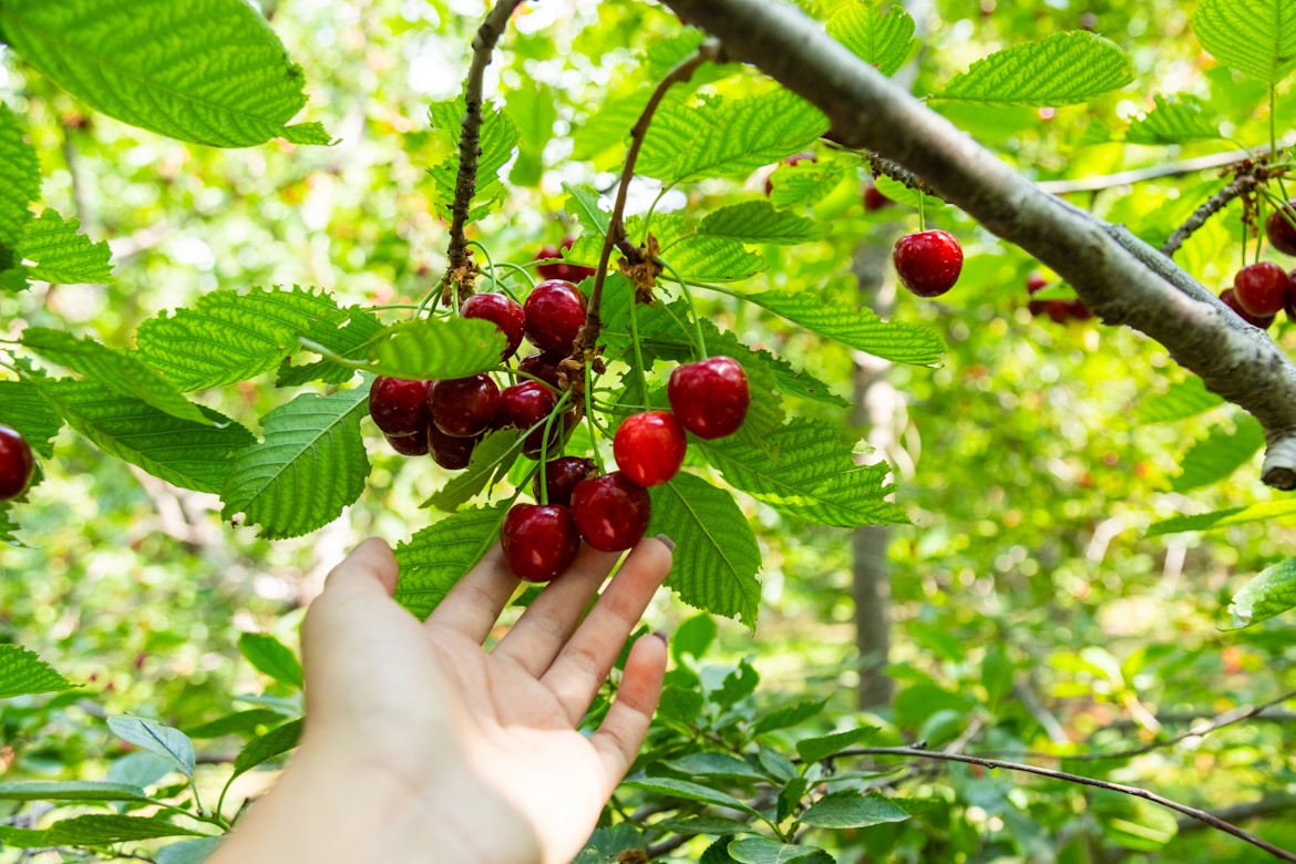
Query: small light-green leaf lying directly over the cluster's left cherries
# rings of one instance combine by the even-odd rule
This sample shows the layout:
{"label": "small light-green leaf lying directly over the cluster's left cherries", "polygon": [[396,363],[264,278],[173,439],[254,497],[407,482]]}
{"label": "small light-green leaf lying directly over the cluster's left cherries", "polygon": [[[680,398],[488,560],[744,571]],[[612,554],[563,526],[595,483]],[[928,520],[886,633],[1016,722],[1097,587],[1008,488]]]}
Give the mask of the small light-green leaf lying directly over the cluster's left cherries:
{"label": "small light-green leaf lying directly over the cluster's left cherries", "polygon": [[483,319],[420,319],[389,326],[367,372],[412,381],[467,378],[499,365],[504,334]]}

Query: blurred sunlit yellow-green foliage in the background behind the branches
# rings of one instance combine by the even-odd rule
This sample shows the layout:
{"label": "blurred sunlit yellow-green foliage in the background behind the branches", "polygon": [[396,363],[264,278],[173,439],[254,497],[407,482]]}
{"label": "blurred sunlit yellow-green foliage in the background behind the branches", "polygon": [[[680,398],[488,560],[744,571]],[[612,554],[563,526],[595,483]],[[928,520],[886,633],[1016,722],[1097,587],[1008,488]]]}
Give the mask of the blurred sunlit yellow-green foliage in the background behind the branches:
{"label": "blurred sunlit yellow-green foliage in the background behind the branches", "polygon": [[[824,17],[841,4],[801,5]],[[1038,180],[1264,145],[1265,93],[1200,49],[1188,28],[1191,5],[912,5],[925,32],[914,91],[938,88],[990,51],[1086,28],[1130,52],[1135,84],[1058,110],[932,106]],[[443,202],[430,199],[424,170],[443,153],[429,133],[426,104],[457,93],[486,5],[283,0],[262,8],[303,66],[307,118],[324,122],[338,139],[333,146],[216,150],[166,140],[88,111],[0,52],[0,93],[25,118],[41,154],[43,201],[82,219],[92,238],[110,240],[118,276],[108,289],[38,285],[0,295],[0,328],[10,334],[27,325],[66,328],[126,346],[144,319],[216,288],[299,284],[347,303],[384,304],[417,302],[435,284],[447,233],[437,210]],[[679,38],[682,26],[658,5],[592,0],[527,3],[515,23],[487,69],[487,92],[525,115],[531,135],[524,131],[524,155],[503,211],[473,225],[472,237],[496,260],[525,263],[568,233],[561,183],[612,188],[629,123],[607,124],[665,71],[654,45]],[[714,87],[741,92],[759,82],[754,70],[740,69]],[[1231,141],[1174,148],[1120,141],[1155,95],[1174,92],[1200,97]],[[1278,128],[1290,130],[1293,117],[1296,100],[1283,91]],[[870,246],[889,249],[901,232],[916,229],[911,207],[864,212],[867,166],[855,154],[824,144],[816,157],[850,170],[850,180],[807,210],[831,234],[766,250],[769,269],[744,289],[853,293],[855,255]],[[706,181],[671,192],[658,210],[701,214],[758,198],[766,174],[745,184]],[[1223,183],[1217,171],[1196,171],[1070,199],[1160,245]],[[631,209],[645,210],[654,194],[651,184],[638,187]],[[1279,496],[1260,483],[1258,456],[1213,484],[1172,490],[1194,443],[1212,429],[1231,427],[1235,413],[1216,408],[1187,421],[1139,424],[1137,408],[1185,378],[1159,346],[1098,321],[1033,316],[1028,256],[950,210],[929,212],[928,220],[960,237],[968,263],[945,302],[901,293],[893,312],[945,334],[949,352],[938,368],[886,372],[905,403],[899,449],[892,453],[897,500],[914,523],[889,535],[897,696],[892,706],[875,709],[876,716],[906,740],[932,737],[933,744],[941,741],[941,724],[950,738],[971,729],[968,753],[1061,753],[1068,750],[1061,740],[1081,749],[1125,749],[1182,732],[1194,718],[1296,689],[1291,615],[1221,630],[1231,595],[1296,547],[1292,527],[1143,536],[1169,516]],[[1240,233],[1235,203],[1195,234],[1178,260],[1220,290],[1240,266]],[[846,348],[732,298],[705,302],[704,315],[851,398]],[[1271,333],[1286,348],[1296,347],[1291,324],[1279,321]],[[249,424],[284,400],[268,378],[202,398]],[[822,404],[789,407],[822,422],[849,422]],[[65,430],[44,482],[16,510],[29,548],[0,549],[0,640],[39,652],[84,687],[0,703],[0,775],[98,777],[118,754],[96,719],[102,714],[136,712],[189,728],[242,705],[235,694],[260,693],[267,679],[238,659],[238,633],[270,631],[293,644],[303,604],[359,538],[377,534],[394,544],[435,518],[417,503],[445,481],[439,469],[391,453],[376,430],[365,429],[375,462],[367,494],[334,525],[288,541],[222,525],[215,497],[171,488]],[[849,725],[858,679],[850,538],[740,500],[765,554],[765,602],[754,635],[719,622],[713,654],[735,663],[752,658],[771,698],[831,696],[816,731]],[[670,631],[689,615],[661,597],[648,624]],[[1016,687],[1002,701],[986,688],[990,658],[1001,666],[1007,659],[1012,670]],[[937,714],[941,723],[933,725]],[[1068,767],[1150,785],[1209,810],[1273,802],[1248,826],[1296,847],[1293,722],[1279,710],[1178,747]],[[220,741],[213,746],[219,756]],[[963,769],[929,780],[967,804],[962,819],[973,839],[955,843],[960,851],[949,860],[1255,859],[1253,850],[1229,838],[1204,841],[1196,833],[1139,851],[1129,837],[1105,830],[1112,820],[1100,817],[1099,799],[1056,785],[1019,795],[1016,780]],[[1059,845],[1058,826],[1082,813],[1104,830],[1090,825],[1082,843]],[[931,842],[908,837],[902,858],[923,859]],[[927,860],[945,860],[936,847],[927,850],[933,856]],[[861,841],[857,858],[840,860],[866,855]]]}

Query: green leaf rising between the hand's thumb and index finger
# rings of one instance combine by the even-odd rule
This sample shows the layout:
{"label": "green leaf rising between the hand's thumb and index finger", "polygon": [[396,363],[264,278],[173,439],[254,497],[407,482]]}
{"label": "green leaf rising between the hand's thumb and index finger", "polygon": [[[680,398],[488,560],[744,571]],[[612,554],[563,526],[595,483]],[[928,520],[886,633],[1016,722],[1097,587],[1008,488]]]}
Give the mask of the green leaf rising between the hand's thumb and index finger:
{"label": "green leaf rising between the hand's thumb and index finger", "polygon": [[426,618],[455,583],[499,541],[508,504],[460,510],[429,525],[397,545],[400,579],[395,598],[419,618]]}

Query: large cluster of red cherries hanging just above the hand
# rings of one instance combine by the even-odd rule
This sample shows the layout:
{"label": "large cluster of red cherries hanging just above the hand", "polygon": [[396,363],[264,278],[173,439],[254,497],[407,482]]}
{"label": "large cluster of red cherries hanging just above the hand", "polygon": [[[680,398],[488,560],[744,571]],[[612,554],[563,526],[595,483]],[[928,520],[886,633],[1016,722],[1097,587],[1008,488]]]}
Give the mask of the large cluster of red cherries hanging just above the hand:
{"label": "large cluster of red cherries hanging just above the hand", "polygon": [[[565,240],[562,246],[570,247]],[[560,258],[547,246],[538,260]],[[513,574],[547,582],[565,571],[583,539],[601,552],[629,549],[648,530],[648,487],[670,481],[684,461],[686,430],[700,438],[730,435],[743,425],[750,403],[746,373],[730,358],[708,358],[678,367],[666,395],[671,411],[643,411],[622,421],[613,437],[619,470],[601,474],[581,456],[550,459],[579,418],[578,409],[552,417],[562,390],[560,363],[572,354],[584,324],[586,298],[568,279],[591,271],[565,262],[537,268],[546,281],[520,304],[503,294],[473,294],[460,315],[495,324],[505,337],[508,360],[522,335],[539,348],[518,360],[522,381],[500,390],[489,374],[448,381],[376,378],[369,416],[393,449],[406,456],[430,453],[443,468],[467,468],[486,433],[526,431],[522,453],[542,461],[535,475],[535,504],[515,504],[504,517],[500,540]],[[556,427],[546,440],[546,427]]]}

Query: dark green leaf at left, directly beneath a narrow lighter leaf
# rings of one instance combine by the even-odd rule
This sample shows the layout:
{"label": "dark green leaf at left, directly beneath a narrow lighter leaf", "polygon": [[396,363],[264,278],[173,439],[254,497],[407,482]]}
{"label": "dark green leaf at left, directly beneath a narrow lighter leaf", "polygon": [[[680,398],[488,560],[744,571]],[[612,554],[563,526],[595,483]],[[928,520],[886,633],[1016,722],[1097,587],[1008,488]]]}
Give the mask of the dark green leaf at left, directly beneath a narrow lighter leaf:
{"label": "dark green leaf at left, directly beneath a narrow lighter leaf", "polygon": [[255,440],[210,408],[202,413],[215,425],[198,425],[93,381],[36,381],[36,387],[101,451],[181,488],[219,492],[235,455]]}

